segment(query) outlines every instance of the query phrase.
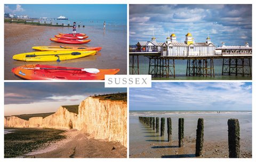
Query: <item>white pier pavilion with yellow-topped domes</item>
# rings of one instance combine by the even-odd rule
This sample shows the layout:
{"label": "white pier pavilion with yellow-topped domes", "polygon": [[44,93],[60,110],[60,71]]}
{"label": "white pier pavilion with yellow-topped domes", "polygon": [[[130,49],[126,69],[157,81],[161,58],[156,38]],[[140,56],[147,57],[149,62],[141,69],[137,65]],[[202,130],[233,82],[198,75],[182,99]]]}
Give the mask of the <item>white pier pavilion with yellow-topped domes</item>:
{"label": "white pier pavilion with yellow-topped domes", "polygon": [[213,56],[227,54],[252,54],[252,47],[246,42],[245,46],[225,46],[217,47],[211,42],[209,37],[205,42],[195,42],[191,33],[187,33],[184,42],[177,42],[174,33],[166,38],[165,42],[157,42],[153,36],[151,41],[139,41],[136,52],[161,52],[161,56]]}

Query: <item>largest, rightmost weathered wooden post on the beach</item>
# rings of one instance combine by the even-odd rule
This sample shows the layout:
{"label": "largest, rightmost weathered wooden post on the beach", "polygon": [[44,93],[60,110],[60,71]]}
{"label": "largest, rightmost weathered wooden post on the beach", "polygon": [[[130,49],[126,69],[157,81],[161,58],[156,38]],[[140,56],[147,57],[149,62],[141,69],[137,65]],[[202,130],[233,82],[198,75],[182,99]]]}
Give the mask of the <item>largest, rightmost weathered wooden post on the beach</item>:
{"label": "largest, rightmost weathered wooden post on the beach", "polygon": [[229,158],[239,158],[240,154],[240,127],[235,118],[228,120],[228,150]]}

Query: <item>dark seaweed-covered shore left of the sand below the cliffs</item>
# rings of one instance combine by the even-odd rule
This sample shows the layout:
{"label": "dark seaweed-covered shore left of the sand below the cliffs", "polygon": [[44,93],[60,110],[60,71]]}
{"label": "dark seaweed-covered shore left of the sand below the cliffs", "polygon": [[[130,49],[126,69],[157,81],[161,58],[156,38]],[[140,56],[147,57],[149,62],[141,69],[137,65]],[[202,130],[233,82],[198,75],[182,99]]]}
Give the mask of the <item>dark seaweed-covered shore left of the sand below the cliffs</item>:
{"label": "dark seaweed-covered shore left of the sand below the cliffs", "polygon": [[61,135],[63,132],[55,129],[15,128],[13,133],[4,135],[4,158],[19,157],[45,148],[51,142],[65,139],[66,135]]}

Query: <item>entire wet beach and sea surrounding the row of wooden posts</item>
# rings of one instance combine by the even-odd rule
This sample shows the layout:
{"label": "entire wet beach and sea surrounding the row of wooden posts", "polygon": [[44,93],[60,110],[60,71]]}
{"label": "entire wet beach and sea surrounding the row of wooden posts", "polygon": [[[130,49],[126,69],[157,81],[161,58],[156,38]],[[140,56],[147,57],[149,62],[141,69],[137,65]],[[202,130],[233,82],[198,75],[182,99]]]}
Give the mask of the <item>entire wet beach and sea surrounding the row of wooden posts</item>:
{"label": "entire wet beach and sea surrounding the row of wooden posts", "polygon": [[[204,158],[228,158],[228,127],[227,121],[231,117],[239,119],[240,124],[240,157],[252,157],[252,123],[250,112],[130,112],[129,157],[130,158],[194,158],[196,151],[197,119],[204,118],[204,144],[202,155]],[[180,114],[181,113],[181,114]],[[159,115],[171,117],[172,141],[167,139],[167,123],[164,135],[140,123],[137,115]],[[172,115],[170,115],[172,114]],[[178,118],[185,119],[184,146],[179,148]],[[160,121],[159,121],[160,124]]]}

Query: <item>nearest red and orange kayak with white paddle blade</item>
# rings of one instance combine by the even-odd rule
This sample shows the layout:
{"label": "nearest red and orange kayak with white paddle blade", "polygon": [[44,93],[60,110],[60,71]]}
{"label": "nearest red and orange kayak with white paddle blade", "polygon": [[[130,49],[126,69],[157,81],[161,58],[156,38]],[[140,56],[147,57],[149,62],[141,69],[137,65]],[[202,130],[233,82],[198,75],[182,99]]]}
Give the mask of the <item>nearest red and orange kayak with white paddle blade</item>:
{"label": "nearest red and orange kayak with white paddle blade", "polygon": [[117,74],[119,69],[82,69],[33,64],[14,67],[12,72],[29,80],[104,80],[105,75]]}

